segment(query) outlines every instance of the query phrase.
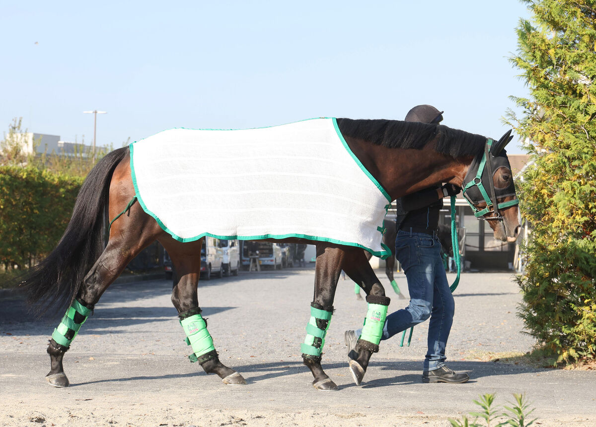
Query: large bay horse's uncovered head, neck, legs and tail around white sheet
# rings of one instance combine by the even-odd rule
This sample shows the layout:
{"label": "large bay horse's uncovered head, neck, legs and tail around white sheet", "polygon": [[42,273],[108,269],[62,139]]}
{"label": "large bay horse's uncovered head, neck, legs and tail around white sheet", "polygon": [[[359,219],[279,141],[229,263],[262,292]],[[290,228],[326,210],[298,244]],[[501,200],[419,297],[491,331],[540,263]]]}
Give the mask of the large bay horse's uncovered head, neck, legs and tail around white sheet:
{"label": "large bay horse's uncovered head, neck, legs and tail around white sheet", "polygon": [[[511,139],[509,133],[494,142],[484,136],[437,124],[347,118],[333,121],[350,155],[386,192],[388,200],[434,184],[452,183],[464,187],[464,193],[468,190],[476,215],[490,220],[495,238],[509,242],[516,240],[520,230],[517,196],[503,150]],[[187,344],[192,346],[191,362],[198,361],[205,372],[216,373],[225,384],[246,384],[240,373],[219,360],[206,322],[200,316],[197,283],[203,239],[176,240],[144,211],[141,203],[135,203],[138,195],[131,174],[132,148],[113,150],[89,172],[63,237],[55,249],[21,280],[30,307],[38,313],[47,310],[49,305],[70,303],[49,340],[47,352],[51,369],[46,381],[54,387],[69,385],[63,357],[80,326],[126,265],[142,249],[158,240],[172,258],[177,272],[171,299],[187,334]],[[474,186],[479,186],[482,188],[480,192],[490,193],[490,196],[474,199],[477,190]],[[509,190],[499,193],[499,189]],[[104,244],[106,219],[111,219],[107,246]],[[316,246],[314,297],[311,319],[306,327],[307,338],[301,346],[302,357],[314,377],[313,387],[337,390],[337,385],[322,369],[321,354],[334,310],[340,272],[343,269],[367,294],[367,328],[378,329],[378,324],[382,327],[384,322],[382,312],[384,310],[386,315],[389,298],[383,285],[375,276],[362,247],[295,237],[267,240]],[[361,380],[371,354],[378,351],[378,341],[375,343],[374,338],[365,337],[363,332],[357,347],[359,357],[356,362]]]}

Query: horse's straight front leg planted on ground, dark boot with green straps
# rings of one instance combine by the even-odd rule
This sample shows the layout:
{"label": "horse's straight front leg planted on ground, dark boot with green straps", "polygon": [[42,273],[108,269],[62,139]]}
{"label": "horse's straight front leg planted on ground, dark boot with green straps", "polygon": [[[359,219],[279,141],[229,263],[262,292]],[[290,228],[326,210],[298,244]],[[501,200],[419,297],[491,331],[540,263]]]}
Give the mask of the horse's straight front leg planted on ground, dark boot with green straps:
{"label": "horse's straight front leg planted on ground, dark boot with green straps", "polygon": [[306,339],[300,349],[304,364],[315,377],[312,385],[317,390],[337,390],[335,382],[321,367],[321,354],[333,315],[333,299],[342,272],[344,249],[324,243],[316,245],[315,294],[311,303],[311,318],[306,325]]}

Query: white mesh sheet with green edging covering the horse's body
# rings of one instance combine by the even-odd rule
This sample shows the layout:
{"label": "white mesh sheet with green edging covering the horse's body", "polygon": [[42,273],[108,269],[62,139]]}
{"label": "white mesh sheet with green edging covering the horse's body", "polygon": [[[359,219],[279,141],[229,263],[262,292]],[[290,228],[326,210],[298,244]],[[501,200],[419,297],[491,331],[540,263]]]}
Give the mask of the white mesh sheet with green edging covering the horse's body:
{"label": "white mesh sheet with green edging covering the horse's body", "polygon": [[176,240],[303,237],[389,253],[380,231],[389,196],[334,118],[176,128],[130,148],[139,203]]}

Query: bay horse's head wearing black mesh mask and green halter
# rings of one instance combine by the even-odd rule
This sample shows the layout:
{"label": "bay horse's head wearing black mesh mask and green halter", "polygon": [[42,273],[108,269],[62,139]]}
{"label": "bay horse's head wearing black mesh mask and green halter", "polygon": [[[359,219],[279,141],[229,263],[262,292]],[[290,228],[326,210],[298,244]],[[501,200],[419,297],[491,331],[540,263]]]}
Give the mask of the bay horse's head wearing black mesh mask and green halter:
{"label": "bay horse's head wearing black mesh mask and green halter", "polygon": [[517,208],[519,200],[504,150],[511,139],[509,130],[498,142],[486,140],[485,152],[470,165],[463,189],[476,218],[489,221],[496,239],[513,243],[519,236],[521,225]]}

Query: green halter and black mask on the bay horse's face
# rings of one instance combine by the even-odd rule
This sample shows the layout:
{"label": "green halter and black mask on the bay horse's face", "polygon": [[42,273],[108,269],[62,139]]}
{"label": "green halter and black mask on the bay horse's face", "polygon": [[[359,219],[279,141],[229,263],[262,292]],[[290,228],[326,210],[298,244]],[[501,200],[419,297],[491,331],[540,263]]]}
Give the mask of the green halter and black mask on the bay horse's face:
{"label": "green halter and black mask on the bay horse's face", "polygon": [[[476,177],[473,178],[473,180],[469,181],[467,184],[465,184],[465,180],[468,178],[468,175],[470,175],[470,172],[473,173],[474,168],[476,168],[476,159],[474,159],[474,162],[470,165],[470,169],[468,170],[468,173],[465,175],[464,178],[464,189],[463,189],[463,195],[465,197],[465,200],[467,200],[468,204],[470,205],[470,207],[472,208],[472,211],[474,211],[474,216],[476,216],[476,218],[480,218],[480,219],[497,219],[499,221],[503,220],[503,216],[501,215],[501,213],[499,212],[499,209],[503,209],[503,208],[508,208],[509,206],[514,206],[519,204],[519,199],[517,199],[517,196],[515,199],[510,200],[509,202],[502,202],[502,203],[497,203],[496,202],[496,198],[497,198],[497,191],[495,189],[495,183],[493,181],[493,171],[492,171],[492,163],[491,163],[491,158],[489,158],[489,153],[491,150],[491,146],[492,146],[493,140],[492,139],[487,139],[486,140],[486,145],[485,145],[485,152],[482,155],[482,159],[480,160],[480,162],[477,164],[477,172],[476,172]],[[499,159],[501,158],[501,156],[495,157],[492,156],[492,159]],[[507,161],[506,157],[503,157],[504,159],[504,166],[508,167],[509,169],[511,169],[511,167],[509,166],[509,162]],[[506,164],[505,164],[506,163]],[[489,191],[491,192],[490,196],[487,193],[485,186],[482,184],[482,175],[485,171],[485,167],[486,167],[486,171],[488,172],[487,175],[485,177],[486,180],[488,180],[487,187],[489,189]],[[513,186],[513,183],[511,183],[510,186]],[[470,194],[467,193],[468,190],[473,189],[473,187],[477,187],[477,191],[480,192],[480,195],[482,196],[482,198],[484,199],[484,201],[486,202],[486,208],[480,210],[478,208],[476,208],[476,206],[474,206],[473,202],[480,202],[480,200],[473,200],[470,196]],[[509,187],[507,187],[508,189]],[[505,190],[507,190],[505,189]],[[499,191],[500,192],[500,191]],[[515,189],[513,189],[513,193],[505,193],[505,194],[499,194],[499,196],[501,197],[505,197],[505,196],[511,196],[511,195],[516,195],[515,193]],[[489,216],[489,218],[485,218],[484,215],[488,214],[489,212],[491,212],[491,206],[493,206],[493,216]]]}

